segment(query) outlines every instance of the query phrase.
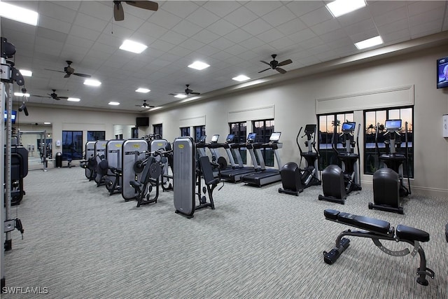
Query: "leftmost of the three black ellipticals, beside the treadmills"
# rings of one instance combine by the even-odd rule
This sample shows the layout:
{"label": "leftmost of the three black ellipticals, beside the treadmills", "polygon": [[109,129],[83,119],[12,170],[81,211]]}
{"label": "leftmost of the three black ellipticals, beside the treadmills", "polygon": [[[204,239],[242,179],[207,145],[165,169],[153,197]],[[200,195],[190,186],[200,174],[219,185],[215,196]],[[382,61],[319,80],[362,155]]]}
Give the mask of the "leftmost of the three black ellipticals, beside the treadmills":
{"label": "leftmost of the three black ellipticals, beside the treadmills", "polygon": [[305,146],[308,147],[308,151],[306,152],[302,151],[299,142],[302,129],[303,127],[300,127],[295,142],[300,151],[299,165],[302,165],[302,158],[304,158],[307,166],[305,166],[304,169],[300,169],[295,162],[288,162],[283,165],[280,169],[281,184],[283,185],[283,188],[279,188],[279,193],[298,196],[304,188],[321,185],[321,180],[318,178],[317,172],[319,158],[319,152],[316,149],[317,125],[308,124],[305,126],[304,135],[301,138],[305,136],[307,137],[307,140],[304,142]]}

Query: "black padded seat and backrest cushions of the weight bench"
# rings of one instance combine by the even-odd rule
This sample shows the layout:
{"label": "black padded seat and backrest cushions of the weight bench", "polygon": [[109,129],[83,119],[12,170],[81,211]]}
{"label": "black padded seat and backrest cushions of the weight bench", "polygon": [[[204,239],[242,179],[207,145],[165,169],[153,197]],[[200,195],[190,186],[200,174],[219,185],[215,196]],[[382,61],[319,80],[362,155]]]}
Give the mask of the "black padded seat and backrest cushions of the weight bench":
{"label": "black padded seat and backrest cushions of the weight bench", "polygon": [[[388,234],[388,232],[393,232],[391,229],[391,223],[387,221],[380,220],[377,218],[370,218],[365,216],[357,216],[349,213],[340,212],[334,209],[325,209],[323,215],[326,219],[337,221],[339,223],[344,223],[347,225],[354,226],[356,228],[361,228],[363,230],[369,230],[370,232],[377,232],[381,234]],[[419,230],[417,228],[411,228],[407,225],[399,224],[395,229],[395,235],[398,239],[408,240],[408,241],[419,241],[428,242],[429,234],[424,230]]]}

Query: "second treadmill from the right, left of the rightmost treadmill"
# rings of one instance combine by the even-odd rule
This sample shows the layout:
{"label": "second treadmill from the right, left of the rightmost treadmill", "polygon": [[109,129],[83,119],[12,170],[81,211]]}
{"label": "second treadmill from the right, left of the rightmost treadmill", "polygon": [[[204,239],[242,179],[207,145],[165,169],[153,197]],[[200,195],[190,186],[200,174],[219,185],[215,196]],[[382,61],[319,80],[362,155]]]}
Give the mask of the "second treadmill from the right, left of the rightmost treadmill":
{"label": "second treadmill from the right, left of the rightmost treadmill", "polygon": [[[235,154],[238,164],[235,165],[235,169],[228,169],[221,171],[221,179],[225,181],[230,181],[233,183],[237,183],[241,180],[241,176],[244,176],[245,174],[251,174],[256,171],[260,171],[260,167],[258,167],[257,162],[255,159],[252,159],[252,162],[254,164],[253,167],[244,167],[243,160],[241,158],[241,154],[239,153],[239,148],[249,148],[251,147],[251,144],[254,143],[255,137],[257,136],[256,133],[249,133],[246,139],[246,143],[241,144],[229,144],[231,150]],[[248,151],[251,151],[248,149]]]}

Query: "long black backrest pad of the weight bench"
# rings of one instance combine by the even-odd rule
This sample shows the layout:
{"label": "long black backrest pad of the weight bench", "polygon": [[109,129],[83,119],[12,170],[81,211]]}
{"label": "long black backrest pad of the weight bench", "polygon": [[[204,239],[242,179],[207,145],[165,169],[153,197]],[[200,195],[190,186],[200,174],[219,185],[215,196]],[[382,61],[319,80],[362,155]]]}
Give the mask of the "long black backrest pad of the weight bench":
{"label": "long black backrest pad of the weight bench", "polygon": [[384,220],[366,216],[357,216],[333,209],[325,209],[323,214],[325,215],[325,218],[329,220],[355,226],[356,228],[362,228],[364,230],[370,230],[371,232],[387,234],[391,228],[391,223]]}

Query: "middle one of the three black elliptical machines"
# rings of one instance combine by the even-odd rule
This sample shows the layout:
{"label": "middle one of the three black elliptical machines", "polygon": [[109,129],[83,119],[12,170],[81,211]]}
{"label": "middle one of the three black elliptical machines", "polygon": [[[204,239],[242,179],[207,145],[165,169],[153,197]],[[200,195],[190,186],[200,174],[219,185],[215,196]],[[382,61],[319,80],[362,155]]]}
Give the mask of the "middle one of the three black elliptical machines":
{"label": "middle one of the three black elliptical machines", "polygon": [[[334,137],[336,136],[337,127],[333,132],[332,149],[335,151],[337,158],[342,161],[342,167],[337,165],[328,165],[322,172],[323,195],[319,195],[319,200],[327,200],[329,202],[337,202],[344,204],[345,199],[353,190],[362,190],[360,186],[360,165],[359,165],[359,131],[356,134],[356,142],[354,132],[356,129],[355,122],[346,122],[342,124],[342,133],[339,137],[343,137],[342,144],[345,151],[339,152],[335,146]],[[356,145],[358,153],[354,153],[353,149]],[[358,163],[358,167],[356,167]]]}

